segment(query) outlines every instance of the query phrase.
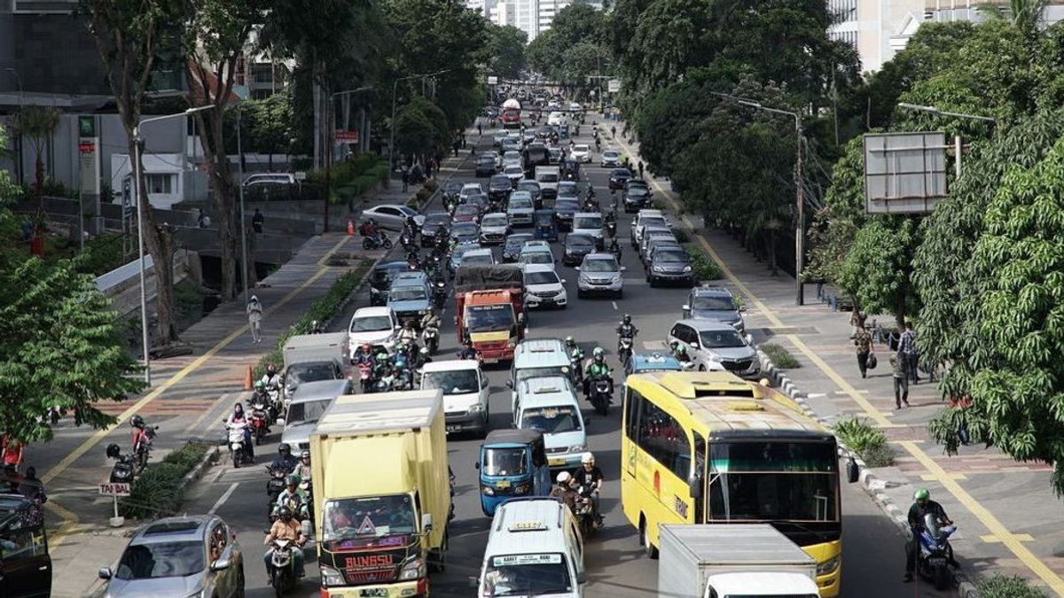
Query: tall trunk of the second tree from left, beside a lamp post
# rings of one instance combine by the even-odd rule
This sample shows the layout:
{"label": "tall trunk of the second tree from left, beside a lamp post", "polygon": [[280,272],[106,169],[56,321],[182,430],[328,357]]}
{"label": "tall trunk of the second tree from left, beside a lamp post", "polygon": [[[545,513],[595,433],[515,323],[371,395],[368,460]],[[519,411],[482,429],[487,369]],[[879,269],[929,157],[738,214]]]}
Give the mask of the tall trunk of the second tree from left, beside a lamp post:
{"label": "tall trunk of the second tree from left, beside a lamp post", "polygon": [[[215,226],[221,249],[221,296],[236,297],[238,227],[246,227],[236,213],[236,185],[226,150],[225,115],[233,99],[238,62],[247,51],[252,28],[263,22],[268,0],[187,0],[185,32],[185,74],[188,102],[193,106],[213,106],[196,113],[200,145],[214,189]],[[253,271],[243,264],[247,271]]]}

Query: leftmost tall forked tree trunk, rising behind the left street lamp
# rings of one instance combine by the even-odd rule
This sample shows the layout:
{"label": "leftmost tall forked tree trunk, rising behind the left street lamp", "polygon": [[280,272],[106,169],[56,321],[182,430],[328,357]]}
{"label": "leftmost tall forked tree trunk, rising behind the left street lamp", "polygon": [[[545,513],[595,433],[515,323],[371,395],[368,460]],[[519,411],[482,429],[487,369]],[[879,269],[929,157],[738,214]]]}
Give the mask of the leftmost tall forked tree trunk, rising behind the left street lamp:
{"label": "leftmost tall forked tree trunk, rising behind the left street lamp", "polygon": [[[130,156],[137,154],[133,131],[140,122],[145,98],[151,90],[155,61],[164,52],[178,52],[168,47],[172,41],[165,35],[167,23],[180,21],[177,0],[82,0],[88,16],[89,31],[96,39],[104,74],[115,98],[118,115],[129,139]],[[134,181],[137,218],[145,232],[144,243],[154,262],[156,342],[167,345],[178,338],[173,318],[173,234],[155,221],[148,198],[148,185],[143,164]]]}

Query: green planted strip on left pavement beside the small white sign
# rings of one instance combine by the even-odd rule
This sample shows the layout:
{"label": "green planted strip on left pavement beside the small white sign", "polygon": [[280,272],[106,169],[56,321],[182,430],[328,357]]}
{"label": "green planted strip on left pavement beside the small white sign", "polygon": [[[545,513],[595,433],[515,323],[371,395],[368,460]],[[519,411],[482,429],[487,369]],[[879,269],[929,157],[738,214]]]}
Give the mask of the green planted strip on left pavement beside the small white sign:
{"label": "green planted strip on left pavement beside the small white sign", "polygon": [[163,461],[151,463],[133,482],[130,495],[118,501],[123,517],[148,519],[173,515],[184,496],[182,480],[203,460],[209,445],[188,443],[170,452]]}

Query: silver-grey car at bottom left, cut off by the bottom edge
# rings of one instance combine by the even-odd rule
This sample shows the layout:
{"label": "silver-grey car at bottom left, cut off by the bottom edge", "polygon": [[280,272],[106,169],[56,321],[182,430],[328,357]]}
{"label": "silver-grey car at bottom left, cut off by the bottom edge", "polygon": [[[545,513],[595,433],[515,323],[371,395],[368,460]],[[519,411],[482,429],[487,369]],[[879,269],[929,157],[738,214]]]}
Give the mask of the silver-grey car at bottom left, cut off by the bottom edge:
{"label": "silver-grey car at bottom left, cut off by the bottom edge", "polygon": [[99,575],[109,598],[235,598],[244,596],[244,551],[236,531],[217,515],[165,517],[138,529],[115,568]]}

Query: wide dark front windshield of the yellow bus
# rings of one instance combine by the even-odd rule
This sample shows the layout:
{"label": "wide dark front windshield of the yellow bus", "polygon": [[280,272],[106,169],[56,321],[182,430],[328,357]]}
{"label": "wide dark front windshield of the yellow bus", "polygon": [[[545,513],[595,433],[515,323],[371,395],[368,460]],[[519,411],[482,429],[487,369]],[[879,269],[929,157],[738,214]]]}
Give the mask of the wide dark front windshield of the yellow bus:
{"label": "wide dark front windshield of the yellow bus", "polygon": [[712,443],[710,518],[837,521],[837,477],[834,443]]}

